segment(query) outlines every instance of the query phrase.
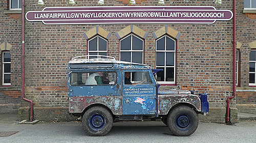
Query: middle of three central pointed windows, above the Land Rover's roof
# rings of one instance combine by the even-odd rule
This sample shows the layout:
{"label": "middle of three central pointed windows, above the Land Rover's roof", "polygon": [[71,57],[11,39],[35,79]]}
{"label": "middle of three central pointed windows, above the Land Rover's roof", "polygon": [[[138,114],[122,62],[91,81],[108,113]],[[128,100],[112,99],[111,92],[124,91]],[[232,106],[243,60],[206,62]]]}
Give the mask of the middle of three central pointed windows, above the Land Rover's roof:
{"label": "middle of three central pointed windows, above the Land Rover's roof", "polygon": [[143,64],[144,40],[130,34],[120,40],[120,61]]}

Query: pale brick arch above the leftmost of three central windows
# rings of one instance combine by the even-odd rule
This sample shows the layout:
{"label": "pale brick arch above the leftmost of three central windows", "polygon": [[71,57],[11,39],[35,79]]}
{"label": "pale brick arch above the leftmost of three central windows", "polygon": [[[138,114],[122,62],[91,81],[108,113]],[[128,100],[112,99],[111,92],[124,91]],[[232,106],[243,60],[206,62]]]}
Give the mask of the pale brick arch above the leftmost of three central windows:
{"label": "pale brick arch above the leftmost of three central windows", "polygon": [[99,26],[96,26],[96,27],[93,27],[88,32],[83,34],[83,36],[86,37],[86,40],[89,40],[89,39],[93,38],[96,35],[100,35],[101,37],[109,40],[109,38],[111,36],[111,33],[104,30],[103,28],[101,28]]}

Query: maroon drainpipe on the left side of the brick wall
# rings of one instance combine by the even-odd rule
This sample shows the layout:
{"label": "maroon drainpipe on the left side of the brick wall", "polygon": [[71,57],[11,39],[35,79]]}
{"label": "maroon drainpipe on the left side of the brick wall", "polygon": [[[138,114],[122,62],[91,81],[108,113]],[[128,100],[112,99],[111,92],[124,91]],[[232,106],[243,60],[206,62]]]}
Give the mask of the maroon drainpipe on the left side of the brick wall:
{"label": "maroon drainpipe on the left side of the brick wall", "polygon": [[25,85],[25,0],[22,0],[22,99],[30,102],[30,121],[33,121],[33,101],[25,98],[24,85]]}

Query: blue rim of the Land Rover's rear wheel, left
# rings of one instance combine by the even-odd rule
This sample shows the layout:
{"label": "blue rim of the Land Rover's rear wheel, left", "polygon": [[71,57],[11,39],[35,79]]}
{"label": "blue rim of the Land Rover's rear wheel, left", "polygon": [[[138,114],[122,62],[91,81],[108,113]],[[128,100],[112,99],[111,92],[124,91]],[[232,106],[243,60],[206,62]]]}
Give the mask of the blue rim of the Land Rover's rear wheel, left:
{"label": "blue rim of the Land Rover's rear wheel, left", "polygon": [[99,131],[103,129],[106,125],[105,118],[100,113],[94,113],[89,118],[89,126],[94,131]]}

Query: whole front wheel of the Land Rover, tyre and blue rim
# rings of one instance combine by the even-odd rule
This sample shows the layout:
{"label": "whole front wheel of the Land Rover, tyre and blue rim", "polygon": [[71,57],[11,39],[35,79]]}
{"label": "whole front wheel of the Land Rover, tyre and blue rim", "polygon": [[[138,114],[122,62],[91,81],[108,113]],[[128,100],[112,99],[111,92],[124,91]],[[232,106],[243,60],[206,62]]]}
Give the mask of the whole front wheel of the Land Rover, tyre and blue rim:
{"label": "whole front wheel of the Land Rover, tyre and blue rim", "polygon": [[178,106],[169,112],[167,125],[177,136],[193,134],[198,127],[198,115],[188,106]]}

